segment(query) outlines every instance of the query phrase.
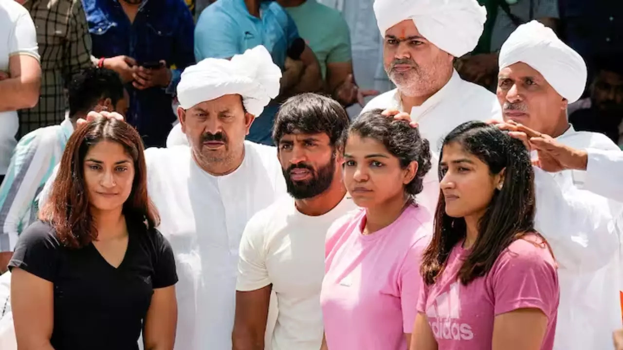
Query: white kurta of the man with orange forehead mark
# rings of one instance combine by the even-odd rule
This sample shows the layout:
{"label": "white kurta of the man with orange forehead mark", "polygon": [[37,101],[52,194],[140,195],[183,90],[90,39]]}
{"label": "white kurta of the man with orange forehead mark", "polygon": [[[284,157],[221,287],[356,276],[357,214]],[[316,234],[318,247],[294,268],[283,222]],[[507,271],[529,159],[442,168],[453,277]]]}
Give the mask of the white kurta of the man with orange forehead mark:
{"label": "white kurta of the man with orange forehead mark", "polygon": [[[405,111],[398,90],[375,97],[363,108],[364,113],[375,108],[395,108]],[[470,120],[502,120],[502,110],[497,97],[487,89],[466,82],[454,71],[450,80],[422,105],[411,110],[411,120],[419,123],[422,137],[430,142],[432,168],[424,177],[424,190],[417,202],[435,212],[439,199],[437,164],[442,141],[450,131]]]}

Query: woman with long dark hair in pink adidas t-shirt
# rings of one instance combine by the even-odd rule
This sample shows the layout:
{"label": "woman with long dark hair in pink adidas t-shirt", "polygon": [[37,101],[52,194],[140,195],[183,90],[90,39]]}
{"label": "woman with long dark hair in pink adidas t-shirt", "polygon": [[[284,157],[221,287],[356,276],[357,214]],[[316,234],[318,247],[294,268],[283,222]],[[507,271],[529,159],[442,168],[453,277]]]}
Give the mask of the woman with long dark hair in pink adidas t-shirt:
{"label": "woman with long dark hair in pink adidas t-shirt", "polygon": [[530,154],[497,127],[470,121],[446,136],[440,159],[411,349],[551,350],[558,275],[534,229]]}

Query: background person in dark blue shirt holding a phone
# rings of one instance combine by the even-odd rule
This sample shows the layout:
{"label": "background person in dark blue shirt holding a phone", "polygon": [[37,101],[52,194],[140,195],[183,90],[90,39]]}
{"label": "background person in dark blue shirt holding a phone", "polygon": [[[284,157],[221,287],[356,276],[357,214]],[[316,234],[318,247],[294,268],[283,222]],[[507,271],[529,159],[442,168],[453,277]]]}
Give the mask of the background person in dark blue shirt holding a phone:
{"label": "background person in dark blue shirt holding a phone", "polygon": [[[145,146],[164,146],[181,72],[194,64],[194,21],[184,0],[84,0],[93,62],[130,93],[126,121]],[[171,67],[174,65],[174,67]]]}

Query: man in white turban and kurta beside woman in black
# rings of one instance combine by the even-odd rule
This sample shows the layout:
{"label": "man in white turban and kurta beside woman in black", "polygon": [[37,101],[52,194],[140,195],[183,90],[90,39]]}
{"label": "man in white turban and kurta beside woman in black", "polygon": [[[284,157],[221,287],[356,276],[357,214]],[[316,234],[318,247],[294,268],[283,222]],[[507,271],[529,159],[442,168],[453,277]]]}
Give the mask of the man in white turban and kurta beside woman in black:
{"label": "man in white turban and kurta beside woman in black", "polygon": [[[178,116],[190,147],[145,151],[158,229],[171,243],[179,278],[175,349],[232,349],[242,231],[255,212],[287,193],[277,149],[244,140],[277,96],[280,78],[263,46],[186,68]],[[42,201],[50,181],[54,176]]]}

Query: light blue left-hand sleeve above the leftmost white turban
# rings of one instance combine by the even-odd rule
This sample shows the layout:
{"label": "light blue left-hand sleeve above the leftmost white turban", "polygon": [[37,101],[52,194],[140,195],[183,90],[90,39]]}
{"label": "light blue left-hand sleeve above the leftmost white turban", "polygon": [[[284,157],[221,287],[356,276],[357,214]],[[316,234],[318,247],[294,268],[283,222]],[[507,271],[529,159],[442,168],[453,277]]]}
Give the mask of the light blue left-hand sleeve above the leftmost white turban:
{"label": "light blue left-hand sleeve above the leftmost white turban", "polygon": [[237,32],[229,16],[207,7],[199,17],[194,34],[194,55],[197,62],[207,59],[229,59],[240,52]]}

